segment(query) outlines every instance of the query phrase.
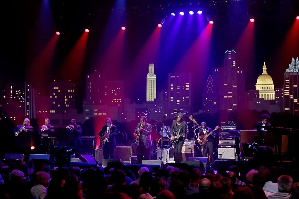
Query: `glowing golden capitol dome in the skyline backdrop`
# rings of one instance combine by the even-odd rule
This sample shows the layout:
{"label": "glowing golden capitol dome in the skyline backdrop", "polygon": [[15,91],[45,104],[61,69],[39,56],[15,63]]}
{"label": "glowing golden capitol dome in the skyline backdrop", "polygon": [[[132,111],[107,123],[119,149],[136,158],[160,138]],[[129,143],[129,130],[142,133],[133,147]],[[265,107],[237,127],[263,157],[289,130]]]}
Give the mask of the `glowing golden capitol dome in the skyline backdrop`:
{"label": "glowing golden capitol dome in the skyline backdrop", "polygon": [[271,76],[267,74],[267,67],[265,62],[263,66],[263,73],[257,78],[255,90],[259,90],[259,98],[264,98],[265,100],[275,99],[273,80]]}

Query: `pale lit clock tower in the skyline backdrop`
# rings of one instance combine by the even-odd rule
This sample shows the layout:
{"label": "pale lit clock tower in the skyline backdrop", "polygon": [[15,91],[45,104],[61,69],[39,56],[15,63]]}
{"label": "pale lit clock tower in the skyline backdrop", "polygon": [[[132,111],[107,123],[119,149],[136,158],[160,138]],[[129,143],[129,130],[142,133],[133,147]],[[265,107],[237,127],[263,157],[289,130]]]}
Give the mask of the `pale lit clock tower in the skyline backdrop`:
{"label": "pale lit clock tower in the skyline backdrop", "polygon": [[154,101],[156,98],[157,78],[155,74],[155,65],[149,64],[147,74],[147,101]]}

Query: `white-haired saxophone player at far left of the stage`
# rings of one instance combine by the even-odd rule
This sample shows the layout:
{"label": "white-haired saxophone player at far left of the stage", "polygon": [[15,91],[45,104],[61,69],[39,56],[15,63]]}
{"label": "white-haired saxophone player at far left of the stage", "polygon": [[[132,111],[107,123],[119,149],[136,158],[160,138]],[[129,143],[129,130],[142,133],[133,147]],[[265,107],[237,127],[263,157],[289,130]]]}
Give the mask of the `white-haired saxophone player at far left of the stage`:
{"label": "white-haired saxophone player at far left of the stage", "polygon": [[31,148],[31,135],[33,127],[30,126],[30,120],[24,119],[23,125],[18,125],[13,129],[15,133],[15,150],[17,153],[23,153],[23,162],[29,160]]}

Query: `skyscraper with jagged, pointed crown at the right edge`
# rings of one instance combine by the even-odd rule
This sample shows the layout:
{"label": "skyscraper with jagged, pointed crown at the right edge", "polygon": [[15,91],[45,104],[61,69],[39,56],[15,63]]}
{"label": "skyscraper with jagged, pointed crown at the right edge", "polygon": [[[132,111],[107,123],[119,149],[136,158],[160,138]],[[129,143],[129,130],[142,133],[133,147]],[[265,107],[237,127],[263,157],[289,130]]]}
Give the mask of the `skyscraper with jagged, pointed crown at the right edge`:
{"label": "skyscraper with jagged, pointed crown at the right edge", "polygon": [[283,105],[284,111],[292,113],[294,115],[299,115],[299,60],[292,58],[291,64],[289,64],[289,69],[286,69],[284,73],[284,96]]}

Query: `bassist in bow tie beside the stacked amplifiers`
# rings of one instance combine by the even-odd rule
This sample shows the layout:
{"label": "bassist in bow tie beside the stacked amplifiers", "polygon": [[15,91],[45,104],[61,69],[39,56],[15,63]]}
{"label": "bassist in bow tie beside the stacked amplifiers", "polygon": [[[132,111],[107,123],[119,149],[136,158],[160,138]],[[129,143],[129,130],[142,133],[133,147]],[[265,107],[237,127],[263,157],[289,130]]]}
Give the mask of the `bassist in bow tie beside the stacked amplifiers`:
{"label": "bassist in bow tie beside the stacked amplifiers", "polygon": [[[207,124],[205,122],[202,122],[200,124],[200,129],[199,129],[199,132],[198,132],[198,137],[200,139],[200,136],[201,135],[205,135],[205,134],[208,134],[209,132],[212,131],[211,128],[207,127],[206,126]],[[216,132],[213,132],[211,135],[209,135],[207,137],[207,142],[205,143],[205,145],[203,146],[203,157],[208,157],[208,154],[210,155],[210,163],[213,163],[214,161],[214,155],[213,155],[213,148],[214,148],[214,139],[215,139],[215,136],[216,136]]]}

